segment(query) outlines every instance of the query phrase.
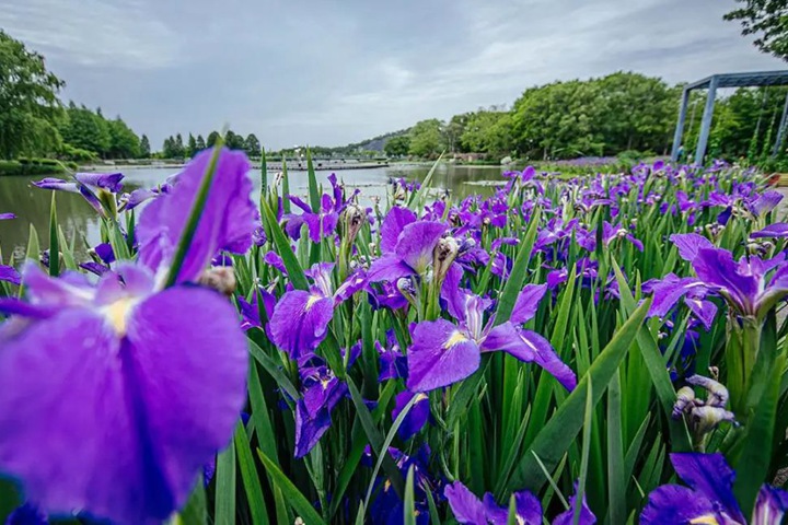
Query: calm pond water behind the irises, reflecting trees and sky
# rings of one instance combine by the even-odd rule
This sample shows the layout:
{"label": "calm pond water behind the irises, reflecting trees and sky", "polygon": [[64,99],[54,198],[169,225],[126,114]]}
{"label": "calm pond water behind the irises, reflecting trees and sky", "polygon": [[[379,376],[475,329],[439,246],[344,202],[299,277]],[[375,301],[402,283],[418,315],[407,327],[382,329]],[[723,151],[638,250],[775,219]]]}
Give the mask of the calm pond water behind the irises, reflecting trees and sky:
{"label": "calm pond water behind the irises, reflecting trees and sky", "polygon": [[[374,170],[349,170],[337,172],[337,177],[350,188],[361,189],[362,199],[385,195],[385,185],[391,177],[406,177],[408,179],[424,179],[429,167],[425,166],[389,166]],[[139,187],[153,187],[166,179],[174,172],[162,168],[134,168],[125,171],[125,190]],[[441,165],[436,171],[432,186],[449,189],[459,198],[470,194],[491,195],[495,190],[490,186],[478,185],[486,180],[500,180],[499,167],[486,166],[447,166]],[[318,182],[328,186],[325,177],[327,172],[317,172]],[[12,212],[16,219],[0,221],[0,249],[4,260],[11,252],[14,259],[24,257],[27,246],[30,225],[38,232],[42,249],[49,245],[49,208],[53,192],[31,186],[33,180],[43,177],[0,177],[0,213]],[[259,171],[254,172],[255,192],[260,188]],[[268,180],[274,179],[269,172]],[[471,183],[471,184],[467,184]],[[308,182],[305,172],[290,173],[290,191],[305,195]],[[93,246],[100,242],[99,218],[85,200],[76,194],[56,192],[58,222],[69,243],[74,242],[78,253],[84,254],[84,247]]]}

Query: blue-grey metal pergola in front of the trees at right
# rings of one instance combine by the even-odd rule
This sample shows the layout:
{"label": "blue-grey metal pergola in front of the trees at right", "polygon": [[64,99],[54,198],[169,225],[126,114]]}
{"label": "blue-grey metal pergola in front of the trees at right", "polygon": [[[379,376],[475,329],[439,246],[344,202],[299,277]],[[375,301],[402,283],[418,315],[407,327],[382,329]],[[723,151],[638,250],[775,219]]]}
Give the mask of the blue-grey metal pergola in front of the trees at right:
{"label": "blue-grey metal pergola in front of the trees at right", "polygon": [[[711,130],[711,117],[714,115],[717,90],[721,88],[763,88],[768,85],[788,85],[788,70],[712,74],[711,77],[707,77],[703,80],[685,85],[684,93],[682,95],[681,109],[679,112],[679,121],[676,122],[675,135],[673,136],[673,150],[671,152],[671,159],[673,162],[679,160],[679,148],[681,147],[682,135],[684,133],[684,121],[686,120],[690,94],[693,91],[708,90],[706,95],[706,106],[704,107],[703,119],[700,120],[700,133],[698,136],[697,148],[695,149],[695,162],[703,163],[704,156],[706,156],[706,145],[708,144],[709,131]],[[783,135],[787,118],[788,97],[786,97],[786,104],[783,108],[783,118],[780,118],[777,140],[775,141],[773,150],[774,155],[777,154],[777,149],[783,142]]]}

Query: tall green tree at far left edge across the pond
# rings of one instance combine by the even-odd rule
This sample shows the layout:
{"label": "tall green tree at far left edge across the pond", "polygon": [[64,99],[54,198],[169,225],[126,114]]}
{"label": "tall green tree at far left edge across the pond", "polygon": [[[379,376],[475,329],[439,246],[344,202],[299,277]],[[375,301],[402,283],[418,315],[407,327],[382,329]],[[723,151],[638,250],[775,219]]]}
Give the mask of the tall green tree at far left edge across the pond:
{"label": "tall green tree at far left edge across the pond", "polygon": [[0,30],[0,158],[44,155],[60,148],[57,97],[66,85],[44,57]]}

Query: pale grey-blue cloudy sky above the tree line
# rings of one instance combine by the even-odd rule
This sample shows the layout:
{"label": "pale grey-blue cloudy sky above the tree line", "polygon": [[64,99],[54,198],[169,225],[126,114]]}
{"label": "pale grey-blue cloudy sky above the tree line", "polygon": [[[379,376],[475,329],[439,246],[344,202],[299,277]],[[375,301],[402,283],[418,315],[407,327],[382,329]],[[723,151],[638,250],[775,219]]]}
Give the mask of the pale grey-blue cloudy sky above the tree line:
{"label": "pale grey-blue cloudy sky above the tree line", "polygon": [[531,85],[634,70],[669,82],[779,69],[733,0],[3,0],[66,100],[157,149],[230,126],[269,148],[339,145],[511,104]]}

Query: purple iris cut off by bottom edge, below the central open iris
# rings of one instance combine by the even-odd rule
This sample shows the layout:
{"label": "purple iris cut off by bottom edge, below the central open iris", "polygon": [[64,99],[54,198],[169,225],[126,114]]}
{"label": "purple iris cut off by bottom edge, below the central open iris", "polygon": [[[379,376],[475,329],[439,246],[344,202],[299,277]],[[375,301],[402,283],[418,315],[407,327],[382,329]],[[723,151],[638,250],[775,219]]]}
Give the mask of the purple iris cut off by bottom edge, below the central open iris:
{"label": "purple iris cut off by bottom edge, below the central open iris", "polygon": [[[479,500],[462,482],[454,481],[445,487],[443,494],[460,524],[506,525],[509,523],[509,505],[499,505],[489,492],[486,492],[484,498]],[[553,525],[571,525],[573,523],[576,501],[577,497],[572,495],[569,500],[569,509],[556,516]],[[588,508],[584,497],[579,517],[578,525],[593,525],[596,523],[596,516]],[[542,504],[528,490],[514,492],[514,521],[523,525],[542,525],[543,523]]]}

